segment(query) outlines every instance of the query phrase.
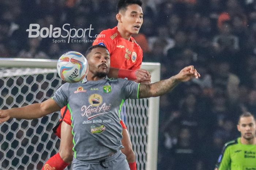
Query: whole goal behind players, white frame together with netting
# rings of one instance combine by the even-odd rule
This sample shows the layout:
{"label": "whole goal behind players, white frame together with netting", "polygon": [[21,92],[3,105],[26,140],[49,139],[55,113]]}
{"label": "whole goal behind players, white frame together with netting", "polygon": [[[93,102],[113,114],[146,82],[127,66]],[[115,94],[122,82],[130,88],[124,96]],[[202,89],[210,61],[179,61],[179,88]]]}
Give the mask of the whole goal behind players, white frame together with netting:
{"label": "whole goal behind players, white frame together with netting", "polygon": [[[0,59],[0,109],[43,102],[64,83],[57,75],[56,60]],[[37,67],[37,68],[34,68]],[[152,82],[160,77],[158,63],[143,63]],[[121,118],[127,125],[138,170],[157,169],[159,98],[125,101]],[[10,119],[0,124],[0,169],[42,169],[59,150],[52,132],[60,114],[36,120]],[[66,169],[72,169],[68,166]]]}

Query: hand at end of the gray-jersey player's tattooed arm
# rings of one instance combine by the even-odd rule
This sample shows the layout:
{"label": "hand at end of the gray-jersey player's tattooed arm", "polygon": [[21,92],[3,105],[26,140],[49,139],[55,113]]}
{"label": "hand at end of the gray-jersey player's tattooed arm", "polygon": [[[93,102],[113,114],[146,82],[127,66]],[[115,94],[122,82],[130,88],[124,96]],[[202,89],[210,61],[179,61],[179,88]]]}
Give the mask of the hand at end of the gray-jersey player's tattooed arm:
{"label": "hand at end of the gray-jersey player's tattooed arm", "polygon": [[180,82],[187,82],[193,78],[198,79],[200,74],[196,71],[193,65],[183,68],[177,75],[174,76]]}

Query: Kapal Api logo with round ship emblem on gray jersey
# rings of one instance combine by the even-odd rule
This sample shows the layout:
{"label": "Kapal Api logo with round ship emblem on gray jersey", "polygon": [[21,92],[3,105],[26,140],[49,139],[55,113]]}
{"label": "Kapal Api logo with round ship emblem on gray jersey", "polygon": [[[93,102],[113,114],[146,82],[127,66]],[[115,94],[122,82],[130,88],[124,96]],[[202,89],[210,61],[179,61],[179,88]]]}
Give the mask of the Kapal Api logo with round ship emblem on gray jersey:
{"label": "Kapal Api logo with round ship emblem on gray jersey", "polygon": [[[103,103],[103,98],[101,95],[99,94],[91,94],[90,97],[88,98],[88,102],[90,103],[89,106],[82,106],[81,111],[82,116],[86,116],[87,120],[91,120],[95,117],[101,116],[102,114],[105,114],[106,111],[110,110],[111,108],[111,104],[106,105],[106,103]],[[102,105],[101,105],[102,104]],[[98,113],[98,114],[94,114],[93,113]]]}

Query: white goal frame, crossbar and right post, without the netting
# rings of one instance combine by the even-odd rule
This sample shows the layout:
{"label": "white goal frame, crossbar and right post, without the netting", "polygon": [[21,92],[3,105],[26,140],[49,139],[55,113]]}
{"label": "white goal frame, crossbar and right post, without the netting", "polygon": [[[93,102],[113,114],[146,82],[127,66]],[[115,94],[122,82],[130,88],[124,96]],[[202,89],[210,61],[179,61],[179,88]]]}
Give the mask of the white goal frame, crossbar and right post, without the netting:
{"label": "white goal frame, crossbar and right post, without the netting", "polygon": [[[31,58],[0,58],[0,67],[56,69],[56,65],[57,60]],[[160,63],[143,62],[142,68],[146,69],[151,73],[151,83],[160,80]],[[146,169],[157,170],[159,97],[149,98],[148,101],[148,144]]]}

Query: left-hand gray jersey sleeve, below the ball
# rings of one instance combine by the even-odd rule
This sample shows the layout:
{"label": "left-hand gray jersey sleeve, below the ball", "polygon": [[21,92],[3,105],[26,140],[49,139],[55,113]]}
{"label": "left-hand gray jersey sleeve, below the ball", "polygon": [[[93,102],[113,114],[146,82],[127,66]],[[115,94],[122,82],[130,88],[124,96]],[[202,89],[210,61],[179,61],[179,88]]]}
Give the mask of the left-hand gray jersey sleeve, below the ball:
{"label": "left-hand gray jersey sleeve, below the ball", "polygon": [[63,84],[55,93],[52,99],[62,108],[68,104],[69,83]]}

